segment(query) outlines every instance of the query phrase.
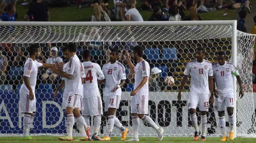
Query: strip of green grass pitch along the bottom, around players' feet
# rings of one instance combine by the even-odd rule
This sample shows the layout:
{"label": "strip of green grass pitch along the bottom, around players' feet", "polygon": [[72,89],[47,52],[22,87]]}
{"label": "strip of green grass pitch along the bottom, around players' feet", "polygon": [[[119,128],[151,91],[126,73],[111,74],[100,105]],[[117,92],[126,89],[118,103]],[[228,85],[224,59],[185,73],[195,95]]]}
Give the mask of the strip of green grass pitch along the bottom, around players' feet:
{"label": "strip of green grass pitch along the bottom, around players' feet", "polygon": [[[20,143],[20,142],[37,142],[37,143],[56,143],[56,142],[67,142],[67,141],[59,141],[57,137],[48,137],[48,136],[38,136],[34,137],[36,140],[34,141],[26,141],[21,140],[21,137],[0,137],[0,143]],[[74,137],[76,139],[77,137]],[[130,139],[128,137],[127,139]],[[120,143],[123,142],[120,140],[120,137],[111,137],[111,141],[104,141],[106,143]],[[140,137],[140,143],[154,143],[159,142],[157,141],[156,137]],[[212,137],[206,138],[207,143],[216,143],[220,142],[220,138]],[[90,141],[91,142],[91,141]],[[102,141],[92,141],[92,142],[102,142]],[[161,143],[195,143],[201,141],[193,141],[193,137],[164,137]],[[255,143],[255,138],[236,138],[235,140],[228,141],[230,143]]]}

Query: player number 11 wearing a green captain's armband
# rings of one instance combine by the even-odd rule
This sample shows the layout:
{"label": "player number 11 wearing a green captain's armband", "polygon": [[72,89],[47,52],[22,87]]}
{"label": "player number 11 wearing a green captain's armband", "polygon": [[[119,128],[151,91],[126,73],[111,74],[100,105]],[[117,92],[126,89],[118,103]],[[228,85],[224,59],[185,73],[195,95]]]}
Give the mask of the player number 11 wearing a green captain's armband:
{"label": "player number 11 wearing a green captain's armband", "polygon": [[213,81],[216,83],[213,86],[215,103],[214,107],[218,111],[219,115],[219,125],[220,130],[222,132],[223,138],[220,141],[228,141],[227,132],[226,132],[226,121],[225,121],[225,106],[228,112],[228,120],[229,120],[229,139],[234,140],[234,126],[235,126],[235,118],[233,115],[234,110],[234,87],[233,87],[233,78],[232,74],[236,76],[236,80],[238,81],[240,91],[239,96],[241,98],[244,96],[244,91],[242,87],[242,80],[239,76],[238,71],[234,64],[226,62],[226,54],[224,51],[220,51],[217,55],[218,63],[213,64]]}

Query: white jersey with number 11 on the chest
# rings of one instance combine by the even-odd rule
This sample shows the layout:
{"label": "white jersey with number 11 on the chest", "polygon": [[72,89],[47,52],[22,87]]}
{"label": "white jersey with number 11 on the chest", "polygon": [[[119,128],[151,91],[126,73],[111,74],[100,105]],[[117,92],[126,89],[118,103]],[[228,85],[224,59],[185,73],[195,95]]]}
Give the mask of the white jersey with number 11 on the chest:
{"label": "white jersey with number 11 on the chest", "polygon": [[218,93],[220,95],[232,94],[234,92],[232,74],[235,76],[239,75],[235,65],[225,61],[223,65],[213,64],[212,68]]}

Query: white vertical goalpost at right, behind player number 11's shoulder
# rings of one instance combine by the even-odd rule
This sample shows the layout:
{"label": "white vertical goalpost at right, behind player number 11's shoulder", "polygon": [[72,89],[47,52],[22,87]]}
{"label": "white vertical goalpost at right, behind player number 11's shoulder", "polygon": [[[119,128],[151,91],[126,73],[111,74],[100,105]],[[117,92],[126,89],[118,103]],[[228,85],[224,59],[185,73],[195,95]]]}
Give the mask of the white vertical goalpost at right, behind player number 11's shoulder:
{"label": "white vertical goalpost at right, behind player number 11's shoulder", "polygon": [[[236,66],[236,56],[237,56],[237,46],[236,46],[236,20],[232,20],[232,62],[233,64]],[[234,125],[234,134],[235,134],[235,138],[236,138],[236,91],[237,91],[237,87],[236,87],[236,77],[233,76],[233,86],[234,86],[234,102],[235,102],[235,106],[234,106],[234,111],[233,111],[233,115],[235,118],[235,125]]]}

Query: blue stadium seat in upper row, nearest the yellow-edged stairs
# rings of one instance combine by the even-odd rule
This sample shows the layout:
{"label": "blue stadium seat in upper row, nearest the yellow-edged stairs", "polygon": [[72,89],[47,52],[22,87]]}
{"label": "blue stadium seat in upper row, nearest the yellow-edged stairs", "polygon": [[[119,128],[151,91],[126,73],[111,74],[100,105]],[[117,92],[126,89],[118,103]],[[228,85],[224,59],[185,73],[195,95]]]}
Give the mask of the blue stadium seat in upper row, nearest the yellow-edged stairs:
{"label": "blue stadium seat in upper row, nearest the yellow-edged stairs", "polygon": [[161,60],[177,61],[177,49],[176,48],[164,48],[163,52],[162,52]]}

